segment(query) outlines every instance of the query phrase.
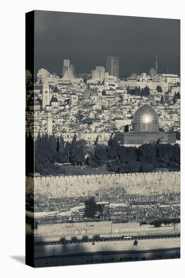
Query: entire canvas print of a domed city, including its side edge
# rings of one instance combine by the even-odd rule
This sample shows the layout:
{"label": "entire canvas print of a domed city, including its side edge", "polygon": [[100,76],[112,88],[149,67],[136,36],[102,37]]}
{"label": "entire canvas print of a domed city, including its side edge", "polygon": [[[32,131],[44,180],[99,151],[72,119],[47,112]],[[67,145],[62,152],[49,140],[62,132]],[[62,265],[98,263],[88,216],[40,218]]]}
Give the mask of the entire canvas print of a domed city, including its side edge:
{"label": "entire canvas print of a domed city, including its side edge", "polygon": [[180,258],[180,21],[26,14],[26,264]]}

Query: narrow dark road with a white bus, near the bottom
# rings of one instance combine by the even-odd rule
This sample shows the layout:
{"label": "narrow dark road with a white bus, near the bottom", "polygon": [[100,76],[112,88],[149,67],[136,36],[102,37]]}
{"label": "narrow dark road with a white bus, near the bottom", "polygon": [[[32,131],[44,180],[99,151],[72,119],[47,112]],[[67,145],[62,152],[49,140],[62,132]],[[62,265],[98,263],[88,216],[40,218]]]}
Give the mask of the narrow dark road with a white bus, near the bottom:
{"label": "narrow dark road with a white bus, near the bottom", "polygon": [[51,241],[51,242],[37,242],[35,243],[36,246],[43,246],[43,245],[60,245],[60,244],[72,244],[72,243],[85,243],[85,242],[102,242],[102,241],[130,241],[130,240],[151,240],[151,239],[167,239],[167,238],[179,238],[180,235],[155,235],[155,236],[136,236],[136,237],[131,237],[131,239],[123,239],[122,237],[114,237],[114,238],[106,238],[105,240],[94,240],[94,239],[88,239],[88,240],[66,240],[64,243],[61,241]]}

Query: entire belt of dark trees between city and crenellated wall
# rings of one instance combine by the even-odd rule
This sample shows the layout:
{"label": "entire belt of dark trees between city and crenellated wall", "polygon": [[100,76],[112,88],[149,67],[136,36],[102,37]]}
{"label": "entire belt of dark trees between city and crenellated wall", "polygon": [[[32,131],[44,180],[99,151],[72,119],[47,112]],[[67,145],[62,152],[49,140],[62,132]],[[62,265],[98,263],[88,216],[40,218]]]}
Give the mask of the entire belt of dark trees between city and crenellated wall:
{"label": "entire belt of dark trees between city and crenellated wall", "polygon": [[[26,174],[33,173],[33,157],[34,171],[41,174],[44,174],[44,169],[45,174],[48,173],[47,169],[50,169],[51,173],[61,174],[62,169],[57,163],[70,163],[75,166],[86,164],[96,168],[106,166],[108,170],[116,173],[151,172],[161,167],[170,171],[180,169],[178,144],[145,144],[136,148],[120,146],[111,139],[108,146],[97,145],[87,153],[85,141],[77,141],[76,134],[71,143],[65,143],[62,136],[49,136],[48,133],[38,133],[34,143],[29,133],[26,141],[26,146],[34,144],[32,156],[29,155],[29,148],[26,148],[27,158],[29,157]],[[65,170],[63,171],[65,173]]]}

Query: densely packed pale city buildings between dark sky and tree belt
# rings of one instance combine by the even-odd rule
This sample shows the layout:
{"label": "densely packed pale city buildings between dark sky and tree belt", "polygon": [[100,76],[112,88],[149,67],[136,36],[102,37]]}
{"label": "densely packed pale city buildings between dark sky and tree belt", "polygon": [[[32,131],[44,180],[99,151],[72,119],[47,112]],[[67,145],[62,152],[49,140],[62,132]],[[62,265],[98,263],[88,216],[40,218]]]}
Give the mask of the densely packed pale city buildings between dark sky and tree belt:
{"label": "densely packed pale city buildings between dark sky and tree belt", "polygon": [[[134,112],[150,104],[158,113],[159,125],[165,132],[180,132],[180,77],[175,74],[132,73],[119,79],[119,59],[107,58],[107,68],[97,66],[90,74],[74,76],[74,66],[64,60],[63,77],[40,69],[36,76],[26,71],[27,132],[36,138],[48,132],[71,142],[84,140],[93,146],[96,141],[106,145],[118,131],[123,131]],[[79,76],[79,74],[78,74]],[[35,80],[36,79],[36,80]],[[31,81],[34,80],[34,84]],[[33,94],[34,91],[34,94]],[[29,125],[34,105],[34,129]],[[177,135],[179,140],[179,134]]]}

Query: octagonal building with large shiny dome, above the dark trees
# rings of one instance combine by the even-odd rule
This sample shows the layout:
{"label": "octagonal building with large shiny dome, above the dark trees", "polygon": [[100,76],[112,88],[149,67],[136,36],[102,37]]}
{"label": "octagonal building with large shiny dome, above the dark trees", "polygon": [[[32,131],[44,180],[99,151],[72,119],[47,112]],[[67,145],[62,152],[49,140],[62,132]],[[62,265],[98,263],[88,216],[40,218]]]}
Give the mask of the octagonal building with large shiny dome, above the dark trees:
{"label": "octagonal building with large shiny dome, above the dark trees", "polygon": [[132,131],[117,132],[115,140],[122,146],[141,146],[144,144],[175,144],[176,134],[159,130],[159,119],[150,105],[138,108],[133,116]]}

